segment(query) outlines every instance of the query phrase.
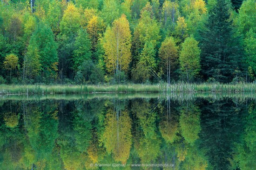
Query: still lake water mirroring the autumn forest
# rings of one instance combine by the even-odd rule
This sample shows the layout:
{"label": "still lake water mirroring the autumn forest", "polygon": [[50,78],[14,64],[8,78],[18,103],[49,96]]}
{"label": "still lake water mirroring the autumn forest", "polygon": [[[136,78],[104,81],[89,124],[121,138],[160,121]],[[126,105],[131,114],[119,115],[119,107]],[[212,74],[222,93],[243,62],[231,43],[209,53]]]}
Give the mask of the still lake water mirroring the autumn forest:
{"label": "still lake water mirroring the autumn forest", "polygon": [[0,96],[0,170],[256,170],[256,99]]}

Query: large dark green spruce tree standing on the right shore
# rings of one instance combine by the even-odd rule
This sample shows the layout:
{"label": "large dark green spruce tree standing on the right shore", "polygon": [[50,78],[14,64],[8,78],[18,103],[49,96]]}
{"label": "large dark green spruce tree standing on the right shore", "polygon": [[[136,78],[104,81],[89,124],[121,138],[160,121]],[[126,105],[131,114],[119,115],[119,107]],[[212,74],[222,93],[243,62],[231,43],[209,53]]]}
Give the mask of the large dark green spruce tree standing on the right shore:
{"label": "large dark green spruce tree standing on the right shore", "polygon": [[[242,48],[239,38],[234,37],[229,19],[229,0],[216,0],[210,8],[206,30],[202,32],[202,74],[205,79],[227,83],[241,76]],[[240,75],[238,75],[240,74]]]}

